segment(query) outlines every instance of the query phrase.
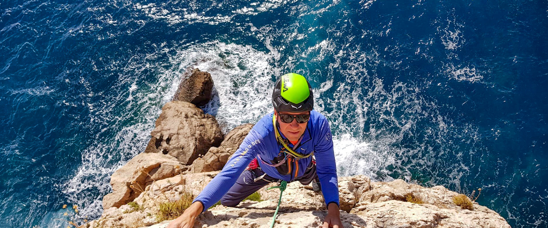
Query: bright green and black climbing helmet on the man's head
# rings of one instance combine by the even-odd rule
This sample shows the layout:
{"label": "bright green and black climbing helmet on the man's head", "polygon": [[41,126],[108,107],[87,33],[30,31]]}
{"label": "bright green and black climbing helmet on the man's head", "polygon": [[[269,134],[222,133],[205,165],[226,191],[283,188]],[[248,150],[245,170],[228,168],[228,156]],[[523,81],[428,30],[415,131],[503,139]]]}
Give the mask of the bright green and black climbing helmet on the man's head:
{"label": "bright green and black climbing helmet on the man's head", "polygon": [[300,74],[288,73],[276,81],[272,104],[277,112],[299,113],[314,108],[310,83]]}

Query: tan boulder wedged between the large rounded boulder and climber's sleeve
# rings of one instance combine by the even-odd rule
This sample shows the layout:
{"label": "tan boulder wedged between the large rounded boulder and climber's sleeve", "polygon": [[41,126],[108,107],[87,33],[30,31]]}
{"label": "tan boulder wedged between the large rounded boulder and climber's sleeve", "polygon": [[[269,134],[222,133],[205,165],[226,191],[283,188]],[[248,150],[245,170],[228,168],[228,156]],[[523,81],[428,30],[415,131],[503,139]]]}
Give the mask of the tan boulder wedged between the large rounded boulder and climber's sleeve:
{"label": "tan boulder wedged between the large rounded boulder and climber's sleeve", "polygon": [[206,155],[194,160],[192,165],[189,166],[188,172],[201,173],[221,170],[230,156],[232,156],[239,148],[239,145],[242,144],[243,139],[246,138],[251,128],[253,128],[253,124],[244,124],[232,129],[232,131],[226,134],[225,139],[218,148],[209,148]]}

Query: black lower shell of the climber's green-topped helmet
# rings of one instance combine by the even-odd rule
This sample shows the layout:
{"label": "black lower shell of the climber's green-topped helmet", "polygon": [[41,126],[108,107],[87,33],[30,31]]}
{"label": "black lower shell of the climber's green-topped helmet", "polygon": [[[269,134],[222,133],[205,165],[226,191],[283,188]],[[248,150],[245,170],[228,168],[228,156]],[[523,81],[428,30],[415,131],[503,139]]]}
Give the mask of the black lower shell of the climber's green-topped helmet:
{"label": "black lower shell of the climber's green-topped helmet", "polygon": [[314,108],[314,96],[312,95],[312,87],[310,86],[310,83],[308,83],[308,81],[306,81],[306,83],[308,84],[310,91],[309,97],[301,103],[295,104],[282,97],[282,81],[281,78],[278,79],[278,81],[276,81],[276,85],[274,86],[274,90],[272,91],[272,105],[274,106],[274,109],[277,112],[292,113],[311,111]]}

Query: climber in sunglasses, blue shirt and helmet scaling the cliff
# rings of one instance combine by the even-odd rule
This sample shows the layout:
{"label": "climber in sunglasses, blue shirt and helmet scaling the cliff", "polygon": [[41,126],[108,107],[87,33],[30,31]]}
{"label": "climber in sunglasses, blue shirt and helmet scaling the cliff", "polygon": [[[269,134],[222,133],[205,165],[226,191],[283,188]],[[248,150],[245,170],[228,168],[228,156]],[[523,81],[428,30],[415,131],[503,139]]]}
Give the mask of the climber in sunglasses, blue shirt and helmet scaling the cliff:
{"label": "climber in sunglasses, blue shirt and helmet scaling the cliff", "polygon": [[319,181],[328,209],[322,227],[343,227],[329,122],[313,110],[310,83],[300,74],[282,75],[272,104],[274,111],[255,124],[222,171],[167,228],[191,228],[198,215],[219,200],[234,207],[262,186],[282,180],[314,182],[318,191]]}

